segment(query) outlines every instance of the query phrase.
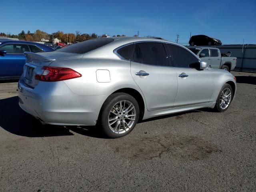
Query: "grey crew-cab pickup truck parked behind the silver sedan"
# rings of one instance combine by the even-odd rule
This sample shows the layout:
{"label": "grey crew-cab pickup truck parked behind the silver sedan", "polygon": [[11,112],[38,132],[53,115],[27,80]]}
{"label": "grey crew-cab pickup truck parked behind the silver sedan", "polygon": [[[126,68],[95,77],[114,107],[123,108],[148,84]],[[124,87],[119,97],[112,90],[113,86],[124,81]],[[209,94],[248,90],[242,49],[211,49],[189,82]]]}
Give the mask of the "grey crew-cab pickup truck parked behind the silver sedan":
{"label": "grey crew-cab pickup truck parked behind the silver sedan", "polygon": [[187,48],[212,68],[224,69],[230,72],[236,67],[237,58],[230,57],[231,52],[221,54],[218,48],[213,47],[188,46]]}

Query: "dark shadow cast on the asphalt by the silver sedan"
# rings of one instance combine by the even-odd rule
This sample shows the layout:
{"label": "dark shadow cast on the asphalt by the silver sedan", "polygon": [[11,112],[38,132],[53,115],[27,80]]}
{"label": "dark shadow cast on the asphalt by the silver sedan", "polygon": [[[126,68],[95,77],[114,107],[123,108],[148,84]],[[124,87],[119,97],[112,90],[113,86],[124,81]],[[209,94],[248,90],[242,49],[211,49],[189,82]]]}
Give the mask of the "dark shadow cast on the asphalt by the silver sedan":
{"label": "dark shadow cast on the asphalt by the silver sedan", "polygon": [[[71,136],[74,135],[71,131],[84,136],[94,138],[107,138],[100,127],[98,126],[57,126],[57,125],[42,125],[39,120],[24,112],[18,105],[18,96],[0,100],[0,127],[4,130],[19,136],[27,137],[49,137],[49,136]],[[154,121],[158,119],[170,118],[187,113],[200,112],[193,110],[178,114],[170,114],[142,120],[140,123]]]}

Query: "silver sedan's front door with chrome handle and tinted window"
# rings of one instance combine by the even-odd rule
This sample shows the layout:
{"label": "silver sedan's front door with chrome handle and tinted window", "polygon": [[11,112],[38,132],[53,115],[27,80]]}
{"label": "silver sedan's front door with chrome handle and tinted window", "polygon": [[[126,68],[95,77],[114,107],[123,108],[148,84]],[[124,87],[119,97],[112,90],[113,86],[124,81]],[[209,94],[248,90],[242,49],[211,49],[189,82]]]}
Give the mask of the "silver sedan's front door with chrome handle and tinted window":
{"label": "silver sedan's front door with chrome handle and tinted window", "polygon": [[189,50],[174,44],[166,47],[178,78],[174,107],[208,103],[214,88],[212,72],[198,68],[199,60]]}

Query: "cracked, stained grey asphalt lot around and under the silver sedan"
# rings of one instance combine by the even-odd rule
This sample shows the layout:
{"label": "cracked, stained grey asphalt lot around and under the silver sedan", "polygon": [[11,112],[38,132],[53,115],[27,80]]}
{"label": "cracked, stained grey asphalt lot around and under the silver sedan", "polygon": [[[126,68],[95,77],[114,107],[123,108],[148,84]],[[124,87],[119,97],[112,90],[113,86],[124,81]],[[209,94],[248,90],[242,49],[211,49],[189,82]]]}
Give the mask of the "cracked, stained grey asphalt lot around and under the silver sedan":
{"label": "cracked, stained grey asphalt lot around and under the silver sedan", "polygon": [[233,72],[224,113],[146,120],[126,137],[97,127],[41,126],[0,83],[0,191],[256,191],[256,73]]}

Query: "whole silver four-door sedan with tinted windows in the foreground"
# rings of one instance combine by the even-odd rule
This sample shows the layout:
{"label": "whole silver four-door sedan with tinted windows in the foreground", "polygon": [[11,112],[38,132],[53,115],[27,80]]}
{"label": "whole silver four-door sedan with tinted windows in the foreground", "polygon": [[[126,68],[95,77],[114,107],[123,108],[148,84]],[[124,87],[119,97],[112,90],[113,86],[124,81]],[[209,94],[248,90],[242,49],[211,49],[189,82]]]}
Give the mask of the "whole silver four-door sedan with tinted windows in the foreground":
{"label": "whole silver four-door sedan with tinted windows in the foreground", "polygon": [[198,108],[224,112],[236,80],[193,52],[156,38],[98,38],[25,52],[19,105],[44,124],[96,125],[111,138],[138,120]]}

